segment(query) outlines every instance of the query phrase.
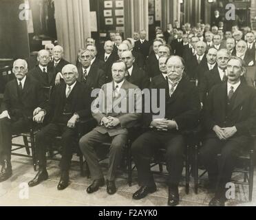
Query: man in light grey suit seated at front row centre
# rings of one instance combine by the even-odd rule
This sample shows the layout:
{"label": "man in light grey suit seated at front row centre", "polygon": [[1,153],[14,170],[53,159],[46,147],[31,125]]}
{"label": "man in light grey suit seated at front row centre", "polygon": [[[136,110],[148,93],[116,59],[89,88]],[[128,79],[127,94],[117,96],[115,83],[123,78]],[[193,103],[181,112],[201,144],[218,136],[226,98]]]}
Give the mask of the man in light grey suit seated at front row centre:
{"label": "man in light grey suit seated at front row centre", "polygon": [[[137,109],[137,106],[140,107],[141,104],[141,94],[135,95],[138,87],[125,80],[125,72],[127,72],[127,67],[123,61],[113,63],[113,81],[103,85],[98,98],[92,104],[94,107],[92,115],[98,122],[98,126],[79,141],[93,179],[92,185],[87,188],[87,193],[96,192],[100,186],[105,184],[94,148],[102,142],[109,141],[111,141],[111,146],[107,171],[107,193],[111,195],[116,192],[114,180],[116,169],[122,159],[122,148],[127,142],[127,129],[138,124],[141,115],[141,109]],[[129,113],[128,109],[130,104],[136,107],[132,113]]]}

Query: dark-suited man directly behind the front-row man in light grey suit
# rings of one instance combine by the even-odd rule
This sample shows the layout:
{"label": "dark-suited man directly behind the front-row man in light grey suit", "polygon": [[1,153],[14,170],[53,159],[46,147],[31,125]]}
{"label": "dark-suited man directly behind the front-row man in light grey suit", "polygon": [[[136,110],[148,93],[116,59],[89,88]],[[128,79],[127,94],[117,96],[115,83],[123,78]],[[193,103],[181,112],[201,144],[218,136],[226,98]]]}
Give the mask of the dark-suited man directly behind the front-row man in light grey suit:
{"label": "dark-suited man directly behind the front-row man in light grey suit", "polygon": [[122,52],[121,58],[127,66],[127,74],[125,77],[127,81],[138,86],[141,90],[149,88],[149,78],[147,78],[143,69],[134,64],[135,58],[131,52]]}

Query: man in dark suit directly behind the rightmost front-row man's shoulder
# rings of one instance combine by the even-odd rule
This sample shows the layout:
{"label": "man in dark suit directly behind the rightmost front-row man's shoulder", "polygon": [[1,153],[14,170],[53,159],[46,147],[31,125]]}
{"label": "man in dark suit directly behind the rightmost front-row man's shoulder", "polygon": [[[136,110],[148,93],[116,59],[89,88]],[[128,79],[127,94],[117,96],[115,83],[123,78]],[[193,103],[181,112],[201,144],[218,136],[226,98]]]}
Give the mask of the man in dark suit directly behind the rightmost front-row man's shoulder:
{"label": "man in dark suit directly behind the rightmost front-row man's shoulder", "polygon": [[226,66],[228,59],[231,57],[229,50],[221,49],[217,52],[217,68],[213,68],[204,74],[202,83],[200,83],[200,101],[201,105],[214,85],[222,83],[226,80]]}

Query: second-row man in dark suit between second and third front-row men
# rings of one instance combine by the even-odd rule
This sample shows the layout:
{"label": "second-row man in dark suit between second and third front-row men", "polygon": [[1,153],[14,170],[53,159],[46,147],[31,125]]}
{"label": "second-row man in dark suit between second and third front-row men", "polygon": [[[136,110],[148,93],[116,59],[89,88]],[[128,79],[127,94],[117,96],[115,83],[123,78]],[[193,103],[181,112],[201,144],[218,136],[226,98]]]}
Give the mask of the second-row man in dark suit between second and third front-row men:
{"label": "second-row man in dark suit between second and third front-row men", "polygon": [[81,65],[78,65],[78,82],[85,84],[85,86],[90,89],[100,89],[105,82],[106,76],[102,69],[96,65],[91,65],[92,61],[92,52],[89,50],[81,50],[79,56],[79,62]]}

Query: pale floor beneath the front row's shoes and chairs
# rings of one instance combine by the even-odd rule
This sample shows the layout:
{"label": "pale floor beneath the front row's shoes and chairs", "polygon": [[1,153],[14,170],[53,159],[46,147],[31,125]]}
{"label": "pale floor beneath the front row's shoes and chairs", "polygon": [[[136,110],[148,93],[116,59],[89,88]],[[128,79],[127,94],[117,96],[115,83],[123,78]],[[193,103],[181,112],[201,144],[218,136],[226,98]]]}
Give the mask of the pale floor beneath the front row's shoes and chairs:
{"label": "pale floor beneath the front row's shoes and chairs", "polygon": [[[19,141],[17,139],[17,142]],[[74,156],[73,159],[78,158]],[[57,190],[56,186],[60,176],[58,165],[59,162],[48,161],[49,179],[43,181],[39,186],[27,188],[28,181],[36,175],[32,167],[32,159],[13,156],[13,175],[7,181],[0,183],[0,206],[167,206],[166,177],[155,175],[158,190],[145,199],[136,201],[131,198],[133,193],[138,190],[136,170],[133,173],[131,187],[127,185],[127,174],[119,171],[116,179],[118,191],[115,195],[108,195],[106,186],[89,195],[85,190],[91,183],[91,179],[80,176],[79,166],[76,162],[72,163],[72,170],[70,170],[70,185],[65,190]],[[106,170],[104,166],[103,170]],[[242,175],[235,176],[235,179],[242,179]],[[189,195],[186,195],[184,182],[181,182],[179,206],[207,206],[213,194],[203,187],[202,182],[198,195],[195,195],[193,177],[191,177],[190,185]],[[252,202],[248,202],[248,186],[237,186],[235,197],[236,199],[229,200],[226,205],[256,206],[256,181]]]}

